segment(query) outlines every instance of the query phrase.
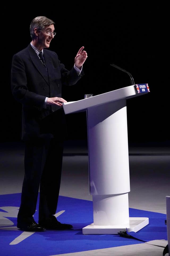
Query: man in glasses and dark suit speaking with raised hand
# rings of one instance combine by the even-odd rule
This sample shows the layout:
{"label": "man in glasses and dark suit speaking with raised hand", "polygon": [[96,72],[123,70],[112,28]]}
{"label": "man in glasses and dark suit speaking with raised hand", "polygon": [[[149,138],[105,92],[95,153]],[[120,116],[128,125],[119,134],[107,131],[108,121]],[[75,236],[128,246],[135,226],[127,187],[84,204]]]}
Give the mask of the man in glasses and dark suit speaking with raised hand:
{"label": "man in glasses and dark suit speaking with raised hand", "polygon": [[[25,141],[25,175],[17,227],[25,231],[64,230],[73,226],[57,221],[63,140],[66,135],[61,88],[74,85],[83,75],[84,47],[68,71],[55,52],[44,49],[56,35],[54,22],[39,16],[32,20],[32,41],[12,58],[11,88],[22,103],[22,139]],[[35,222],[40,187],[39,221]]]}

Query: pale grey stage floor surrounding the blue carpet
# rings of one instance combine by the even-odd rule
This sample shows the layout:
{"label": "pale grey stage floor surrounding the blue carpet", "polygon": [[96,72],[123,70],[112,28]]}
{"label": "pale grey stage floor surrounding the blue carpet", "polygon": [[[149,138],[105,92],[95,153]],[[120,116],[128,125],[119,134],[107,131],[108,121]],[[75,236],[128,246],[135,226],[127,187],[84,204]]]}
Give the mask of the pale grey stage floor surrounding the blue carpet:
{"label": "pale grey stage floor surrounding the blue carpet", "polygon": [[[23,143],[1,143],[0,156],[0,194],[21,193],[24,177]],[[166,214],[165,197],[170,195],[170,148],[131,145],[129,168],[129,207]],[[60,195],[92,201],[92,196],[89,195],[88,151],[84,141],[65,143]],[[155,256],[162,253],[163,247],[143,243],[62,255]]]}

